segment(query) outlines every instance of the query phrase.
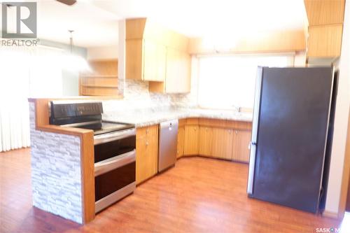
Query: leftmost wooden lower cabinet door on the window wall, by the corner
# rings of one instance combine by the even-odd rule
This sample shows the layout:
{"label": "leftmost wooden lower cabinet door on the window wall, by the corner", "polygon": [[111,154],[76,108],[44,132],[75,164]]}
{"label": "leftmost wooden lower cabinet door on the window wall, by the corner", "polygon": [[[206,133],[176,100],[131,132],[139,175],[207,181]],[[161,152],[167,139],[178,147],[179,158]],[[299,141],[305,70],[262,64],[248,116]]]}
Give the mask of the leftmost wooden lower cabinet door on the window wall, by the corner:
{"label": "leftmost wooden lower cabinet door on the window wall, by the corner", "polygon": [[198,155],[198,137],[200,130],[197,125],[185,126],[183,155]]}

